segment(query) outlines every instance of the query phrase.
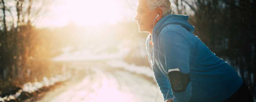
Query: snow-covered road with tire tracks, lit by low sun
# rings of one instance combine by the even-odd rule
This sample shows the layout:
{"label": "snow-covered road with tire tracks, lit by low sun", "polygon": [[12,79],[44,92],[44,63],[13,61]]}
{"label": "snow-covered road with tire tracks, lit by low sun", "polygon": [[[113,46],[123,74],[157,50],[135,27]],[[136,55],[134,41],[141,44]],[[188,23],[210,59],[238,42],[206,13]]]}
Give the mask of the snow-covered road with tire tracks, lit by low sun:
{"label": "snow-covered road with tire tracks, lit by low sun", "polygon": [[[73,67],[83,68],[81,66],[86,66],[82,63],[73,64]],[[120,70],[120,68],[112,68],[105,62],[93,63],[90,67],[83,69],[87,75],[82,80],[73,79],[48,92],[38,102],[164,101],[158,86],[156,88],[155,83],[141,77],[141,75]]]}

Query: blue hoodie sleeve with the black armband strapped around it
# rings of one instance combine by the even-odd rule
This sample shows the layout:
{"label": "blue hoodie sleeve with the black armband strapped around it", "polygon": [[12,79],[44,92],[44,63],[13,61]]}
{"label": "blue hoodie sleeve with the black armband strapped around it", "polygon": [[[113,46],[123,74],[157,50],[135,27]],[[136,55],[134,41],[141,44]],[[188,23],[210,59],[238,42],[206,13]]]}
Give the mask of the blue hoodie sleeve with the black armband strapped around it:
{"label": "blue hoodie sleeve with the black armband strapped around it", "polygon": [[[190,43],[180,34],[167,31],[159,35],[160,54],[164,58],[165,69],[178,68],[180,72],[189,73],[189,60],[191,53]],[[174,102],[189,102],[192,96],[191,82],[184,92],[173,92]]]}

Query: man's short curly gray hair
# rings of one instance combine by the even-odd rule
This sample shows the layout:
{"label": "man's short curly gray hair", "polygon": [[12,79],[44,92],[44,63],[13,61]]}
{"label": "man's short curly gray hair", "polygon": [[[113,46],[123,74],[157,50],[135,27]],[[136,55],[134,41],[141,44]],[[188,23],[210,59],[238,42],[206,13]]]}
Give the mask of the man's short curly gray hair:
{"label": "man's short curly gray hair", "polygon": [[172,14],[173,8],[169,0],[147,0],[147,6],[151,10],[161,8],[163,10],[163,17]]}

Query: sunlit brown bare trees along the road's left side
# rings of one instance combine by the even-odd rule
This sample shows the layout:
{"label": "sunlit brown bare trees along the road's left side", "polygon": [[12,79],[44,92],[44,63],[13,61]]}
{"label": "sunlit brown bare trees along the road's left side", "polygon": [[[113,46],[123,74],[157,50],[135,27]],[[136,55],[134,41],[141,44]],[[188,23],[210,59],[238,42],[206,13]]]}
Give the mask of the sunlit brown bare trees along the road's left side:
{"label": "sunlit brown bare trees along the road's left side", "polygon": [[9,95],[10,91],[15,93],[16,87],[26,82],[59,74],[62,68],[61,63],[49,60],[57,55],[51,53],[55,40],[45,34],[46,30],[32,24],[44,12],[46,3],[46,0],[0,1],[0,96]]}

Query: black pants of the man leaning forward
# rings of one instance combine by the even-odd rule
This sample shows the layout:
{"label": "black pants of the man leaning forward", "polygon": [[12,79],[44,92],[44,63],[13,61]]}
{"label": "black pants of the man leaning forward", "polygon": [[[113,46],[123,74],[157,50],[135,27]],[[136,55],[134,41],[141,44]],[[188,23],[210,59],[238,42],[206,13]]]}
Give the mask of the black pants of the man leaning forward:
{"label": "black pants of the man leaning forward", "polygon": [[243,82],[242,86],[228,99],[223,102],[254,102],[252,98],[252,94],[246,85]]}

